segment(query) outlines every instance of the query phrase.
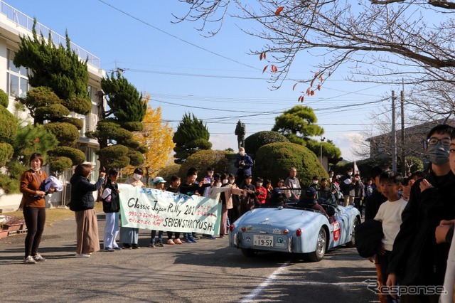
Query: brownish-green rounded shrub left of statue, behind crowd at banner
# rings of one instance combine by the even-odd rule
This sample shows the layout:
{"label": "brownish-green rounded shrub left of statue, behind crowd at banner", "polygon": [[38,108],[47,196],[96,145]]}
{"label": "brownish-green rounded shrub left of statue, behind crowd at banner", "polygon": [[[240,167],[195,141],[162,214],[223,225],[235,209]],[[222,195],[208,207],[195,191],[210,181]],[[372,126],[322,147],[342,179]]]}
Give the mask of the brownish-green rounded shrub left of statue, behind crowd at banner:
{"label": "brownish-green rounded shrub left of statue, behind crowd at banner", "polygon": [[220,151],[220,150],[202,150],[197,151],[195,154],[188,156],[183,164],[181,164],[178,171],[178,176],[184,180],[186,179],[186,172],[191,167],[194,167],[200,171],[200,174],[205,174],[205,169],[208,166],[213,166],[215,168],[215,173],[223,174],[228,171],[228,159],[226,159],[226,154],[233,154],[230,151]]}

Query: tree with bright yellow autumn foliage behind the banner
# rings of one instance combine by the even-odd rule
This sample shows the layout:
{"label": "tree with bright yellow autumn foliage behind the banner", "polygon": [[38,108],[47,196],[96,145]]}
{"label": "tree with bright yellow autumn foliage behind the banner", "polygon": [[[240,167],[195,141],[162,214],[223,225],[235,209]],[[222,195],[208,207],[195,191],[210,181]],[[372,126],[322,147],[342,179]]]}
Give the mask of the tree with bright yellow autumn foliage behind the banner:
{"label": "tree with bright yellow autumn foliage behind the banner", "polygon": [[[150,95],[146,97],[147,103],[150,100]],[[163,123],[161,119],[161,107],[154,109],[150,105],[147,106],[144,120],[144,129],[141,132],[134,132],[134,139],[149,147],[149,151],[144,154],[145,161],[142,166],[144,176],[152,178],[156,172],[164,166],[173,164],[172,150],[175,144],[172,142],[173,129],[169,127],[169,123]],[[123,175],[131,175],[134,171],[134,166],[124,168]]]}

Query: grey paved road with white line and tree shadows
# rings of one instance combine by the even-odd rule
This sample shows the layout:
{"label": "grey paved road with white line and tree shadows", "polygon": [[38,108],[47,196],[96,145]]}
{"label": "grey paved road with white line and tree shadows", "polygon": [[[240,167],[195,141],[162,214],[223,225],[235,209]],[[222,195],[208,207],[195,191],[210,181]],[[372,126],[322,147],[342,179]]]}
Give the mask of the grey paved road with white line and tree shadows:
{"label": "grey paved road with white line and tree shadows", "polygon": [[[104,228],[99,215],[100,234]],[[265,253],[243,257],[228,239],[95,252],[75,259],[75,221],[46,227],[41,255],[25,265],[24,235],[0,240],[1,302],[378,302],[363,281],[374,279],[355,248],[328,252],[321,262]],[[102,238],[102,237],[101,237]]]}

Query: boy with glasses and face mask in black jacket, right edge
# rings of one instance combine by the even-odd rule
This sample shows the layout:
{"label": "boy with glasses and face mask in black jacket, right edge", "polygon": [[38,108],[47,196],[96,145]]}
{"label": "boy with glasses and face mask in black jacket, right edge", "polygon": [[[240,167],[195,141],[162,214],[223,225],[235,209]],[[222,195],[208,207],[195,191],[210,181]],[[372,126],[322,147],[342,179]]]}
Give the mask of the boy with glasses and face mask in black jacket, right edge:
{"label": "boy with glasses and face mask in black jacket, right edge", "polygon": [[[434,232],[441,220],[455,216],[455,176],[450,169],[449,148],[454,128],[440,124],[427,136],[430,173],[417,180],[402,213],[388,266],[387,286],[438,286],[444,282],[448,243],[437,243]],[[439,294],[402,292],[402,302],[438,302]]]}

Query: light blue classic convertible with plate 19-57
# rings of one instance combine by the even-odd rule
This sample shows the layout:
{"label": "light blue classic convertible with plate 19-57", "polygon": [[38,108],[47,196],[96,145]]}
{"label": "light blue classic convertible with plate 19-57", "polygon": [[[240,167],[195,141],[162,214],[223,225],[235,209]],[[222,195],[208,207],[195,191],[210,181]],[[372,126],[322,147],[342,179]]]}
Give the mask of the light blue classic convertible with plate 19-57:
{"label": "light blue classic convertible with plate 19-57", "polygon": [[230,247],[240,248],[247,257],[259,251],[291,252],[313,262],[336,246],[353,247],[354,228],[360,224],[358,209],[338,206],[333,195],[319,203],[335,219],[333,223],[311,208],[253,208],[230,225]]}

